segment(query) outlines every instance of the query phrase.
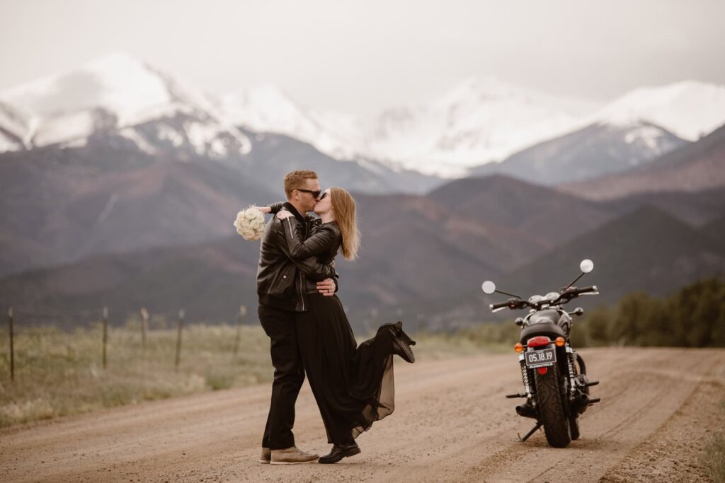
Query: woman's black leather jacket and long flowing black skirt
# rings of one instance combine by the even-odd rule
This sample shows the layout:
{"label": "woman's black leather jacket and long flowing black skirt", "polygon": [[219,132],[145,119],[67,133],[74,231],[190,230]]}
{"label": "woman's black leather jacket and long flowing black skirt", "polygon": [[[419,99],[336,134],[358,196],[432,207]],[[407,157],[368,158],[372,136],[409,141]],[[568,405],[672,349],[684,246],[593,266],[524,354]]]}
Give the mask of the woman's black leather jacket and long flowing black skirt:
{"label": "woman's black leather jacket and long flowing black skirt", "polygon": [[[294,218],[289,221],[293,226],[298,224]],[[323,257],[323,263],[330,263],[325,253],[336,253],[341,239],[336,226],[325,225],[307,240],[300,240],[299,236],[294,240],[288,238],[290,252],[300,258]],[[335,236],[329,232],[320,236],[323,230],[334,232]],[[320,247],[325,250],[320,252]],[[308,248],[315,253],[310,253]],[[401,324],[384,324],[375,337],[358,347],[337,295],[310,293],[307,302],[308,310],[296,316],[302,362],[320,408],[328,442],[342,445],[355,440],[374,421],[394,410],[391,328],[399,331]]]}

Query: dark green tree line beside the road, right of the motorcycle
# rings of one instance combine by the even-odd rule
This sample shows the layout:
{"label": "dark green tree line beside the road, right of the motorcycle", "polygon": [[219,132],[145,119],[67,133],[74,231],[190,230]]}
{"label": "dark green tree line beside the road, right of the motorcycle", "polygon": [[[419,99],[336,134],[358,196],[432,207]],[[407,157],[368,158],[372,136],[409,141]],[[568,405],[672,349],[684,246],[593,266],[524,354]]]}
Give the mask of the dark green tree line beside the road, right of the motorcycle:
{"label": "dark green tree line beside the road, right of the motorcycle", "polygon": [[700,280],[664,298],[631,293],[575,317],[574,347],[725,347],[725,281]]}

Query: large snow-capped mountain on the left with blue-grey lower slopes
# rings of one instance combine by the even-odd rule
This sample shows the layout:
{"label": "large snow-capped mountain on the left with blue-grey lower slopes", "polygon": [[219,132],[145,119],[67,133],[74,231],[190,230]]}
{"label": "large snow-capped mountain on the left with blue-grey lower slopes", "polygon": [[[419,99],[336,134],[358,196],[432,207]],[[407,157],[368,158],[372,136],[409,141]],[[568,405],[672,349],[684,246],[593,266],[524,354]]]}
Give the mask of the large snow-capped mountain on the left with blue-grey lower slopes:
{"label": "large snow-capped mountain on the left with blue-grey lower slopes", "polygon": [[[225,114],[224,101],[126,54],[21,85],[0,93],[0,101],[7,107],[0,111],[0,150],[30,155],[14,159],[33,159],[33,148],[43,148],[68,149],[62,155],[66,159],[102,172],[159,161],[220,163],[241,177],[262,176],[260,185],[270,190],[279,188],[286,171],[300,167],[317,169],[327,182],[366,193],[418,193],[439,182],[335,150],[347,143],[326,138],[331,130],[321,129],[314,113],[305,113],[273,88],[232,98],[228,105],[234,101],[239,109],[228,112],[242,116],[232,119]],[[306,143],[311,136],[337,156]],[[326,139],[330,142],[324,143]]]}

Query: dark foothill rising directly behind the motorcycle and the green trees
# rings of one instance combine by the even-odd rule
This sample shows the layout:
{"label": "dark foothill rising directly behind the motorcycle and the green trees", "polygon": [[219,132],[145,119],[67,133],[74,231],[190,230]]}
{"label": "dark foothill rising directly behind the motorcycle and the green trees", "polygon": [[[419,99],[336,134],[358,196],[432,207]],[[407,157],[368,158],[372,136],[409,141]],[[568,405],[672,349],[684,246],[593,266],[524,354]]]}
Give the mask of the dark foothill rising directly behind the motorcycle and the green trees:
{"label": "dark foothill rising directly behind the motorcycle and the green trees", "polygon": [[[646,249],[643,249],[646,245]],[[716,238],[690,227],[653,206],[641,206],[559,245],[509,274],[482,273],[478,290],[456,298],[427,301],[433,329],[468,327],[482,320],[510,320],[518,313],[492,314],[488,304],[504,295],[484,295],[480,283],[494,280],[500,290],[528,298],[560,290],[579,273],[579,261],[592,259],[594,272],[577,286],[597,285],[600,295],[571,303],[585,309],[615,303],[622,296],[644,291],[668,295],[703,278],[725,277],[725,248]]]}

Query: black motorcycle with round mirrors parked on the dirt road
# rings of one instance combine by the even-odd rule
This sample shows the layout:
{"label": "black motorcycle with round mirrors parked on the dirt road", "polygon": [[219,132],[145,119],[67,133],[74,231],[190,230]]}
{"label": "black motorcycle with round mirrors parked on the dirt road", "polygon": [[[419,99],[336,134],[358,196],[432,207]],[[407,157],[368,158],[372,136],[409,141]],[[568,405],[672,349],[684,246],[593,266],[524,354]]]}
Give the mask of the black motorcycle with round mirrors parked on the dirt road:
{"label": "black motorcycle with round mirrors parked on the dirt road", "polygon": [[549,445],[566,448],[572,440],[579,438],[579,416],[589,406],[600,402],[600,398],[589,397],[589,387],[599,381],[589,381],[584,358],[574,350],[569,338],[571,316],[581,316],[584,310],[577,307],[568,312],[563,308],[580,295],[599,295],[596,285],[574,286],[584,274],[592,272],[594,263],[583,260],[579,268],[579,277],[559,292],[533,295],[528,300],[497,290],[490,280],[481,285],[486,294],[500,293],[510,297],[505,302],[490,304],[492,312],[529,308],[528,315],[515,319],[515,324],[521,327],[521,338],[514,350],[519,353],[523,392],[506,395],[507,398],[526,398],[526,403],[516,406],[516,413],[537,421],[524,437],[519,435],[521,442],[543,426]]}

